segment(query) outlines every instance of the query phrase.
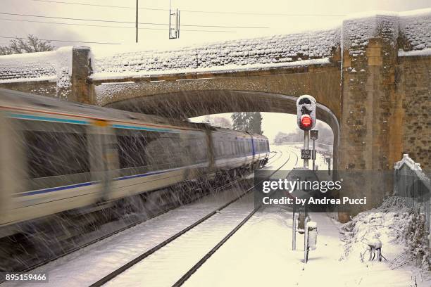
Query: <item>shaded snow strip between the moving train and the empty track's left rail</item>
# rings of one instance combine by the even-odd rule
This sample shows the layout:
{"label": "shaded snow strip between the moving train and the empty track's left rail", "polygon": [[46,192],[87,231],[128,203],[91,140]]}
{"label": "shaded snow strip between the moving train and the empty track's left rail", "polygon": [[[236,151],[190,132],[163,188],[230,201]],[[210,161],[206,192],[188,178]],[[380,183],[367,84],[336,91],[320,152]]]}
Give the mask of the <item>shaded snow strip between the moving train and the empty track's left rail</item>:
{"label": "shaded snow strip between the moving train and the empty track's left rail", "polygon": [[[281,158],[280,155],[276,154],[270,161],[270,164],[274,165],[271,168],[276,169],[283,162],[285,162],[285,158]],[[289,168],[292,168],[292,166]],[[33,272],[49,274],[47,286],[89,286],[146,250],[185,229],[185,227],[201,219],[209,212],[229,202],[242,192],[244,191],[229,189],[214,196],[207,196],[196,203],[171,210],[120,234],[39,267]],[[246,208],[246,210],[249,210],[249,208]],[[244,212],[244,209],[242,212]],[[163,272],[159,275],[162,276]],[[27,285],[15,282],[4,283],[1,286]],[[32,286],[32,283],[30,283],[30,286]]]}

